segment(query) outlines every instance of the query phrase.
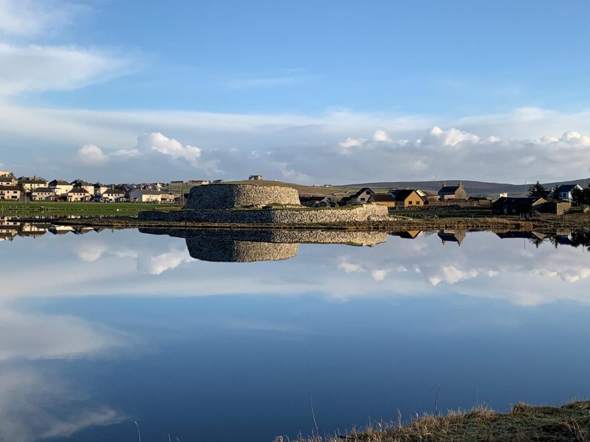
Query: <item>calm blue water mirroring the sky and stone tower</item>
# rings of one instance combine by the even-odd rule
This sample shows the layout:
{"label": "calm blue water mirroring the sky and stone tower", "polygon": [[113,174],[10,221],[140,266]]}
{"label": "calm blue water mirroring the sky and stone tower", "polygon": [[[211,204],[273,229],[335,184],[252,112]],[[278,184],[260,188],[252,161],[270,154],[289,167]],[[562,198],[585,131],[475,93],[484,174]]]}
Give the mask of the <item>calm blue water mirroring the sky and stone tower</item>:
{"label": "calm blue water mirroring the sky and stone tower", "polygon": [[431,412],[435,384],[441,410],[590,394],[566,234],[48,229],[0,227],[0,440],[271,441],[312,433],[312,400],[323,434]]}

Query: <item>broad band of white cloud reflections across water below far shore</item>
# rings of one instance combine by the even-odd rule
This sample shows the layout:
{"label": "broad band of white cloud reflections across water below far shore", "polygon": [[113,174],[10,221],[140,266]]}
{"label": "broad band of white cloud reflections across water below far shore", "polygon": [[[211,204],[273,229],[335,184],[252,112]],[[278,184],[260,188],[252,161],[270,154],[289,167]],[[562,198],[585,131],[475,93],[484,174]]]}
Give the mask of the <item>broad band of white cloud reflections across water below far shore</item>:
{"label": "broad band of white cloud reflections across water below far shore", "polygon": [[[51,249],[50,261],[43,256],[49,250],[44,239],[9,244],[0,250],[10,257],[2,296],[168,296],[173,283],[174,296],[324,293],[349,299],[451,291],[526,305],[590,302],[590,257],[582,249],[555,249],[548,242],[537,249],[489,232],[469,233],[460,248],[441,246],[437,235],[389,236],[374,248],[303,244],[288,261],[249,265],[192,260],[183,239],[164,235],[106,231],[99,239],[60,236],[65,246]],[[75,247],[86,250],[87,259],[100,259],[59,254]],[[26,268],[19,264],[23,260]],[[31,271],[37,278],[30,278]]]}

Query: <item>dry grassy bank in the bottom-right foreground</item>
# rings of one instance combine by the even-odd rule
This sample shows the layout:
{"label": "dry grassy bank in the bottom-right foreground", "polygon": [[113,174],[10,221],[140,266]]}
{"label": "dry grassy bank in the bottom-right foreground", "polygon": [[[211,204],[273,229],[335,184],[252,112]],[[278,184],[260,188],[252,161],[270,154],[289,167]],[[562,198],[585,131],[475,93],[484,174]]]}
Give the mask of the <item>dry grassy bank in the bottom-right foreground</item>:
{"label": "dry grassy bank in the bottom-right foreground", "polygon": [[[287,442],[279,436],[276,442]],[[424,415],[408,425],[377,424],[361,431],[332,437],[298,438],[291,442],[556,442],[590,441],[590,401],[563,407],[516,404],[510,413],[487,408],[469,412],[450,411],[447,415]]]}

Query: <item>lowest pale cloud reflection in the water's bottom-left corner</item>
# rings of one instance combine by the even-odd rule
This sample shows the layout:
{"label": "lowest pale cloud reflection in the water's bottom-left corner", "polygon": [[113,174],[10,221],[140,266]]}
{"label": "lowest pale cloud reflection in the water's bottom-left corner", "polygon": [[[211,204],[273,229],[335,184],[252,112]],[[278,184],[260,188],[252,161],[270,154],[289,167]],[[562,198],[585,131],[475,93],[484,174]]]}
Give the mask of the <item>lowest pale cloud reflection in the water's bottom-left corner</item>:
{"label": "lowest pale cloud reflection in the water's bottom-left corner", "polygon": [[[60,378],[13,367],[0,372],[0,440],[34,441],[67,437],[95,425],[110,425],[123,415],[94,405]],[[64,410],[70,410],[69,413]]]}

